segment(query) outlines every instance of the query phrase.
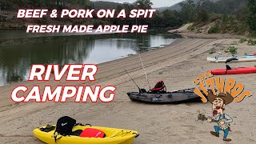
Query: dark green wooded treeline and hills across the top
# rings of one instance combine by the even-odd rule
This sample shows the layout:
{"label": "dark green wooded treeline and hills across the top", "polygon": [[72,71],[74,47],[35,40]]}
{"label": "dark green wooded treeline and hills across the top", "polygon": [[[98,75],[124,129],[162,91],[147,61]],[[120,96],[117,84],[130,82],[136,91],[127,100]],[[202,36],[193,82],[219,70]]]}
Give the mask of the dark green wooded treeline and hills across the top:
{"label": "dark green wooded treeline and hills across the top", "polygon": [[[17,11],[18,8],[48,9],[83,8],[83,9],[125,9],[129,14],[133,9],[150,9],[153,5],[150,0],[137,0],[136,2],[90,2],[90,0],[0,0],[2,10]],[[179,3],[180,10],[157,11],[154,18],[130,19],[64,19],[73,24],[147,24],[151,27],[169,27],[170,29],[182,26],[187,22],[194,22],[194,26],[214,22],[210,32],[213,33],[244,33],[256,31],[256,0],[187,0]],[[37,20],[47,23],[50,19]],[[63,20],[58,19],[58,22]],[[193,30],[194,28],[191,27]]]}

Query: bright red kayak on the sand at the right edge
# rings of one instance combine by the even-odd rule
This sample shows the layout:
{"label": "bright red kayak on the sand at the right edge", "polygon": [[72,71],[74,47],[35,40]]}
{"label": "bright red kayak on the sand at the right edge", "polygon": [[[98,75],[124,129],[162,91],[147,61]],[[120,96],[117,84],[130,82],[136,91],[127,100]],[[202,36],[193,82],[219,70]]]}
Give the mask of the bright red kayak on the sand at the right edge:
{"label": "bright red kayak on the sand at the right edge", "polygon": [[211,70],[211,74],[224,75],[224,74],[251,74],[256,73],[256,67],[238,67],[233,70],[218,69]]}

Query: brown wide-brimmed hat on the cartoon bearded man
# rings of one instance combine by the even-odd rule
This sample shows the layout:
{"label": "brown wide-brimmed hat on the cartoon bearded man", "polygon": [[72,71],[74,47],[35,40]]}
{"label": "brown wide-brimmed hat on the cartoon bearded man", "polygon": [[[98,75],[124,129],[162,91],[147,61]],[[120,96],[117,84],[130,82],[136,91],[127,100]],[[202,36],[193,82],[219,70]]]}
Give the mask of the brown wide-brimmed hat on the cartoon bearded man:
{"label": "brown wide-brimmed hat on the cartoon bearded man", "polygon": [[232,95],[230,93],[226,93],[226,94],[220,93],[220,94],[218,94],[218,96],[215,96],[213,94],[213,92],[210,91],[210,93],[208,94],[207,97],[208,97],[208,102],[210,102],[210,103],[213,103],[215,98],[222,98],[225,101],[225,105],[230,104],[234,100],[234,98],[232,97]]}

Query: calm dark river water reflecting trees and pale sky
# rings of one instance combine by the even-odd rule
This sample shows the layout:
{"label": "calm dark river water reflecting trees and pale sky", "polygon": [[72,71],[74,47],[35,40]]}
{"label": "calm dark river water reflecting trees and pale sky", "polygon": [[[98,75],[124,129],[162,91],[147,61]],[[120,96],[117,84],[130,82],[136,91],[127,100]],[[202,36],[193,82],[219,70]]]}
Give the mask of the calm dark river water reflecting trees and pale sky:
{"label": "calm dark river water reflecting trees and pale sky", "polygon": [[178,35],[163,30],[147,34],[26,34],[0,31],[0,86],[26,81],[32,64],[102,63],[158,49]]}

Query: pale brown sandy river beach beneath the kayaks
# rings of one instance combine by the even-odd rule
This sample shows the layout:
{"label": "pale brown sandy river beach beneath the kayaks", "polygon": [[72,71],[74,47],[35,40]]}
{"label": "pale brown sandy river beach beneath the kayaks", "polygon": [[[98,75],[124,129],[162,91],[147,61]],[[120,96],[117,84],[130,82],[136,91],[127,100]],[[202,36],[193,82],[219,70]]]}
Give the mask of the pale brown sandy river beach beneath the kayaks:
{"label": "pale brown sandy river beach beneath the kayaks", "polygon": [[[166,83],[167,90],[182,90],[195,87],[193,80],[198,74],[207,70],[225,68],[225,63],[210,63],[206,61],[209,50],[224,52],[231,44],[238,47],[238,55],[255,53],[255,46],[239,44],[236,38],[183,38],[171,43],[170,46],[142,53],[146,72],[154,86],[158,80]],[[231,63],[230,66],[254,66],[255,62]],[[210,134],[214,130],[214,123],[197,121],[198,110],[206,111],[211,116],[210,103],[182,103],[153,105],[131,102],[127,92],[137,91],[137,87],[125,73],[141,88],[148,89],[146,78],[138,55],[105,62],[98,65],[96,82],[69,82],[68,85],[113,85],[117,86],[116,96],[109,103],[14,103],[10,94],[14,87],[26,85],[58,86],[66,85],[65,78],[60,82],[19,82],[0,87],[0,143],[40,144],[34,138],[32,130],[38,126],[54,124],[58,118],[69,115],[78,122],[90,123],[93,126],[107,126],[122,129],[138,130],[140,136],[135,139],[136,144],[156,143],[255,143],[256,118],[255,87],[256,74],[240,74],[221,76],[234,78],[242,82],[246,90],[254,95],[242,102],[231,103],[226,106],[225,113],[233,118],[229,138],[231,142],[223,142],[222,138],[215,138]],[[222,133],[221,133],[222,137]]]}

